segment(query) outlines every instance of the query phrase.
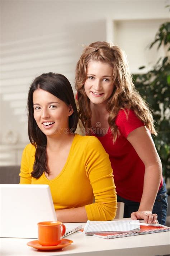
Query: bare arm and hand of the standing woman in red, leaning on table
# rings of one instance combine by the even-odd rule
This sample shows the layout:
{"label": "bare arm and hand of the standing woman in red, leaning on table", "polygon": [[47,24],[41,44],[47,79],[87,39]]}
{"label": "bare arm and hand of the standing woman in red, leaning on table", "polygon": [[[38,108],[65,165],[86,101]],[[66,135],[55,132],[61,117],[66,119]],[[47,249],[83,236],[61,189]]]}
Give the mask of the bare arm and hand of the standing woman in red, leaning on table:
{"label": "bare arm and hand of the standing woman in red, leaning on table", "polygon": [[157,223],[157,215],[152,214],[152,208],[161,181],[162,165],[160,157],[156,151],[151,134],[145,126],[133,130],[127,136],[127,140],[132,144],[145,165],[140,207],[137,212],[131,214],[131,218],[133,220],[144,219],[145,223]]}

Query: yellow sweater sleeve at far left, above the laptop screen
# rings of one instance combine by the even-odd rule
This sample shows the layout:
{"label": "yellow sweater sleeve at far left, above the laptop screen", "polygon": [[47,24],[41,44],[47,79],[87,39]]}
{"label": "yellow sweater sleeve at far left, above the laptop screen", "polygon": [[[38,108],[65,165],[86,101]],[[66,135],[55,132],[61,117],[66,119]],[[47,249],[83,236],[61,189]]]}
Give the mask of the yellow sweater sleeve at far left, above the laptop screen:
{"label": "yellow sweater sleeve at far left, above the laptop screen", "polygon": [[32,144],[28,144],[22,154],[21,169],[20,169],[20,183],[19,184],[31,184],[31,172],[34,163],[35,148]]}

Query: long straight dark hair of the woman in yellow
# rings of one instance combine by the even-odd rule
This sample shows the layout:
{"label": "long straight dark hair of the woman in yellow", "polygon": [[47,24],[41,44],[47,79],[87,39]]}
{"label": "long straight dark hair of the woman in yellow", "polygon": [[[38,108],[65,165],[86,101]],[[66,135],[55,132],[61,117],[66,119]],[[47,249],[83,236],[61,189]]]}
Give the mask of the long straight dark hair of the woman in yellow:
{"label": "long straight dark hair of the woman in yellow", "polygon": [[36,77],[29,88],[27,109],[28,136],[31,144],[36,148],[35,162],[31,175],[37,179],[43,174],[44,171],[49,174],[46,155],[47,137],[39,129],[36,120],[34,119],[33,93],[39,88],[53,94],[58,99],[65,102],[67,106],[72,106],[74,112],[71,116],[69,116],[70,133],[75,132],[78,122],[76,103],[69,80],[61,74],[51,72]]}

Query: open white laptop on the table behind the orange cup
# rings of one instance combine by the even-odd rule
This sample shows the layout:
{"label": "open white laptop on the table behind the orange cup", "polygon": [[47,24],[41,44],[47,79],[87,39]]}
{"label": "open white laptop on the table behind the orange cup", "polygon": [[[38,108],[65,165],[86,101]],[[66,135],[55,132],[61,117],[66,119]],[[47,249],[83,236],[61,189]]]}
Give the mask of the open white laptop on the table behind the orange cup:
{"label": "open white laptop on the table behind the orange cup", "polygon": [[[48,185],[0,184],[0,237],[38,238],[37,223],[57,220]],[[82,226],[66,224],[66,235]]]}

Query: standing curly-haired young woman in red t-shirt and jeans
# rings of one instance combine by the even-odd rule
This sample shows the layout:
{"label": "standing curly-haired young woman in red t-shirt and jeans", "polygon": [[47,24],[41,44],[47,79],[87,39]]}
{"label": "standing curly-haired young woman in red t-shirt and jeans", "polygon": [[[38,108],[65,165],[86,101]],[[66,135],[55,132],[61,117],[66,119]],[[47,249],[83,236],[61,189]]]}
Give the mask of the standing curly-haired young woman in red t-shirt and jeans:
{"label": "standing curly-haired young woman in red t-shirt and jeans", "polygon": [[157,133],[125,54],[108,42],[90,44],[77,62],[75,81],[80,120],[109,154],[124,217],[165,224],[166,188],[151,137]]}

